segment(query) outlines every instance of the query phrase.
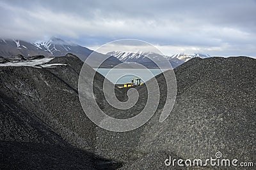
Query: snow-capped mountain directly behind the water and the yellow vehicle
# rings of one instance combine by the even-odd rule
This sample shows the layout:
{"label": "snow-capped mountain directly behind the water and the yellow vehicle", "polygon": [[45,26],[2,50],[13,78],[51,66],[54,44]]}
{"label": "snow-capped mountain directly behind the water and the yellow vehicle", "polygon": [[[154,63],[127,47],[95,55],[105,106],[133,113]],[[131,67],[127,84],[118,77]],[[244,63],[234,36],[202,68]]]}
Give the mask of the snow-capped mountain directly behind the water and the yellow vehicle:
{"label": "snow-capped mountain directly behind the water and the yellow vehicle", "polygon": [[[106,55],[112,55],[117,59],[121,60],[122,62],[138,62],[146,67],[157,67],[151,59],[157,60],[159,62],[164,62],[166,60],[166,57],[168,58],[168,56],[160,55],[159,53],[154,52],[109,52],[106,53]],[[182,60],[179,60],[177,58],[168,58],[168,60],[173,68],[183,63]]]}

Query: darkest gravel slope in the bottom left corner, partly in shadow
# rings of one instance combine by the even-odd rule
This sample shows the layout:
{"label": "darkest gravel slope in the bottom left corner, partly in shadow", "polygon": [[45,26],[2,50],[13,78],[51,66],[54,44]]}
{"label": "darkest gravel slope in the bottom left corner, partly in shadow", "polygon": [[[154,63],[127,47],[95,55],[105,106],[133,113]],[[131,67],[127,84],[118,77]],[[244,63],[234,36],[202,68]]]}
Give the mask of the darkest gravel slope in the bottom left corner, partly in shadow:
{"label": "darkest gravel slope in the bottom left corner, partly in shadow", "polygon": [[0,106],[1,169],[96,169],[96,155],[68,144],[3,92]]}

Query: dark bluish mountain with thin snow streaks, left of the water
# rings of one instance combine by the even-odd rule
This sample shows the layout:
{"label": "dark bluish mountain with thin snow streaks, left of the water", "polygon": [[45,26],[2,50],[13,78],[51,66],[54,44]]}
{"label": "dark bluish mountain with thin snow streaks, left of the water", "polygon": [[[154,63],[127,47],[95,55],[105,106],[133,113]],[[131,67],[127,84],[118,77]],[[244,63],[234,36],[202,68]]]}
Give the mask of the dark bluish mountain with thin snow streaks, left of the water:
{"label": "dark bluish mountain with thin snow streaks, left of the water", "polygon": [[[84,46],[77,45],[75,43],[65,41],[60,38],[51,38],[49,41],[36,41],[28,42],[19,39],[0,39],[0,56],[12,57],[17,55],[23,55],[25,57],[34,55],[44,55],[45,57],[58,57],[64,56],[67,53],[72,53],[79,57],[81,60],[85,60],[93,50],[90,50]],[[107,57],[102,53],[97,53],[97,57]],[[95,62],[97,63],[97,62]],[[122,63],[116,57],[110,57],[104,62],[104,67],[112,67]],[[94,65],[92,64],[92,67]]]}

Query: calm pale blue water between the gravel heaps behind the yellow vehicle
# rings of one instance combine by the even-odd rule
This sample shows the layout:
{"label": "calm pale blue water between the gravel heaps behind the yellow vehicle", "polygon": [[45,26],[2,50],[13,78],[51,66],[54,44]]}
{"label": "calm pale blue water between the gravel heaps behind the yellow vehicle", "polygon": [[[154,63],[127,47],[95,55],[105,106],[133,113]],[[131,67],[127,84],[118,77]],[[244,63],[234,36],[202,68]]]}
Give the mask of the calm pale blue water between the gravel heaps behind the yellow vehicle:
{"label": "calm pale blue water between the gravel heaps behind the yellow vehicle", "polygon": [[[143,82],[162,73],[160,69],[95,69],[114,84],[131,83],[132,78],[141,78]],[[165,71],[165,70],[164,70]]]}

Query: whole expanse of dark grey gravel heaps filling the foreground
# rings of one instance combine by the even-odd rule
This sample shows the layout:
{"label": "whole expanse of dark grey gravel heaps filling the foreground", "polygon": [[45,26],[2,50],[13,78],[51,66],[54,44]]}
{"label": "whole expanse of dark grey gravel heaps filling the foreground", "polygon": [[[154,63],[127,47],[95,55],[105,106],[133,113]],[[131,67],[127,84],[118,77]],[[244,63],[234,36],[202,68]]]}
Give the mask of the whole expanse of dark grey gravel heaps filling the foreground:
{"label": "whole expanse of dark grey gravel heaps filling the foreground", "polygon": [[[67,55],[48,64],[54,63],[67,65],[0,67],[1,167],[19,167],[22,162],[30,168],[99,169],[108,160],[115,160],[122,162],[122,169],[179,169],[164,167],[164,160],[169,155],[209,159],[218,151],[227,159],[255,162],[255,59],[195,58],[177,67],[177,101],[163,123],[158,121],[165,102],[160,74],[157,113],[130,132],[105,131],[88,120],[77,94],[81,60]],[[96,74],[93,83],[102,110],[125,118],[143,109],[147,88],[138,88],[140,101],[136,106],[118,111],[102,96],[103,80]],[[127,97],[120,89],[116,95],[122,101]],[[107,166],[111,168],[111,164]]]}

